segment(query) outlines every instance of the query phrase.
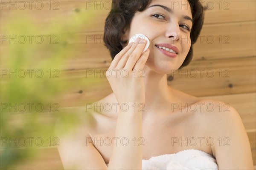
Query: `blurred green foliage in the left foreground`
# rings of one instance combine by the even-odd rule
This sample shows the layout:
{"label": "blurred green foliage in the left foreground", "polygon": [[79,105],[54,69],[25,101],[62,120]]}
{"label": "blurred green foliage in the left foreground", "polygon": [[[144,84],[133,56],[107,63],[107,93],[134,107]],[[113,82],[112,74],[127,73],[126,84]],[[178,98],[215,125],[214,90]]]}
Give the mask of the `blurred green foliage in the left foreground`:
{"label": "blurred green foliage in the left foreground", "polygon": [[[28,12],[27,17],[20,17],[19,11],[13,12],[12,17],[9,17],[9,24],[1,25],[1,35],[38,35],[38,30],[50,32],[52,35],[58,35],[58,43],[47,43],[48,35],[44,36],[44,43],[1,43],[1,69],[6,69],[11,72],[17,72],[21,69],[33,69],[32,77],[29,77],[29,72],[26,72],[26,77],[15,76],[9,77],[9,74],[1,75],[0,82],[0,168],[12,169],[24,161],[29,161],[37,155],[37,148],[44,146],[53,146],[58,141],[55,138],[54,126],[56,120],[61,117],[62,131],[68,132],[74,125],[79,124],[79,117],[69,111],[64,111],[56,104],[55,97],[61,92],[71,88],[72,85],[68,82],[68,77],[61,69],[64,68],[64,61],[70,56],[77,55],[75,49],[67,45],[69,40],[79,40],[76,32],[82,32],[84,26],[90,27],[91,20],[95,15],[100,14],[97,10],[76,9],[73,14],[70,14],[69,20],[72,22],[58,23],[58,18],[52,18],[54,22],[39,28],[37,23],[32,20],[31,13]],[[31,17],[30,17],[31,16]],[[54,37],[51,37],[54,38]],[[4,51],[4,52],[3,52]],[[41,69],[44,76],[38,78],[35,76],[35,70]],[[49,71],[50,70],[50,71]],[[58,78],[53,78],[58,72]],[[2,73],[2,72],[1,72]],[[23,75],[23,72],[21,75]],[[40,72],[37,73],[41,75]],[[51,74],[51,75],[49,75]],[[87,83],[88,82],[88,83]],[[80,80],[76,84],[83,86],[91,86],[97,82],[95,78]],[[99,81],[98,81],[99,82]],[[7,105],[6,105],[7,104]],[[24,112],[19,110],[26,109]],[[29,107],[31,104],[31,108]],[[36,104],[38,108],[35,107]],[[15,110],[12,107],[20,107]],[[41,111],[41,106],[44,109]],[[56,109],[58,112],[54,112]],[[76,110],[73,110],[75,112]],[[81,112],[83,112],[82,110]],[[80,112],[80,111],[79,111]],[[90,115],[85,114],[84,117],[88,122],[92,121]],[[16,138],[16,139],[15,139]],[[23,146],[24,140],[26,144]],[[29,138],[31,143],[29,143]],[[43,139],[44,144],[41,145]],[[7,142],[6,142],[7,140]],[[10,140],[14,142],[10,142]],[[16,141],[15,141],[16,140]],[[16,146],[15,146],[16,145]],[[20,147],[20,149],[14,149]]]}

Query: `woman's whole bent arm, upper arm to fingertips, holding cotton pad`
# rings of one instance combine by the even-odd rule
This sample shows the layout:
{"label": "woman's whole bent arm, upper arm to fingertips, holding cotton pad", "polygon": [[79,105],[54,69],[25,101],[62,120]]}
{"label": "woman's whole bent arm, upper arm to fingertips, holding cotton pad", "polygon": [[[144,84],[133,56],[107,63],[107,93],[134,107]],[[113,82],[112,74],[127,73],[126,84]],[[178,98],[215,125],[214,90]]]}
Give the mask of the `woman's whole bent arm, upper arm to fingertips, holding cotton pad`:
{"label": "woman's whole bent arm, upper arm to fingertips, holding cotton pad", "polygon": [[[142,72],[149,55],[149,49],[142,54],[145,43],[145,40],[137,40],[122,49],[109,67],[112,75],[106,75],[119,106],[128,106],[128,110],[119,109],[115,133],[116,138],[125,140],[113,146],[108,167],[93,143],[88,141],[88,127],[81,124],[71,132],[63,134],[60,131],[64,124],[60,119],[56,123],[55,131],[59,138],[58,150],[64,169],[142,169],[142,112],[139,109],[145,103],[145,87],[143,75],[139,73]],[[121,75],[124,69],[125,72],[128,71],[128,77]],[[83,118],[82,113],[78,115]]]}

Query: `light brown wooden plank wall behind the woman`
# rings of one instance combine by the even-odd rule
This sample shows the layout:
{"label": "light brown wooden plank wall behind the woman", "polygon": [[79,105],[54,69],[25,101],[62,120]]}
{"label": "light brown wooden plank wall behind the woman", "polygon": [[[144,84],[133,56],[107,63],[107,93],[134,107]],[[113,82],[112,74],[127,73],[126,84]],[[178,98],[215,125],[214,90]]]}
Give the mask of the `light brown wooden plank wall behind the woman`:
{"label": "light brown wooden plank wall behind the woman", "polygon": [[[58,96],[57,100],[61,107],[83,106],[88,99],[97,101],[112,92],[104,77],[95,86],[84,87],[83,84],[74,83],[85,79],[87,69],[100,71],[107,69],[111,63],[108,49],[102,40],[97,40],[96,43],[94,39],[87,41],[88,37],[102,39],[105,17],[110,11],[108,3],[111,1],[97,1],[99,4],[102,3],[102,6],[88,6],[88,0],[58,0],[58,10],[55,11],[35,8],[19,11],[19,15],[24,17],[32,14],[38,28],[44,28],[52,22],[53,17],[58,18],[55,20],[58,24],[72,22],[68,20],[70,15],[79,15],[86,10],[85,7],[96,8],[94,11],[97,14],[93,16],[90,25],[85,23],[81,31],[68,32],[80,39],[70,39],[66,42],[68,47],[76,49],[78,53],[65,60],[66,64],[62,68],[72,88]],[[202,4],[207,7],[205,23],[201,38],[194,46],[194,58],[189,66],[182,69],[186,72],[185,75],[168,75],[168,84],[190,95],[212,98],[232,105],[242,118],[251,144],[253,164],[256,165],[256,1],[205,0]],[[6,7],[1,9],[1,25],[10,22],[13,11]],[[12,22],[15,22],[15,18],[12,19]],[[1,29],[1,32],[4,31]],[[44,35],[54,34],[47,29],[36,29],[35,32]],[[4,43],[1,44],[2,59],[6,46]],[[1,63],[1,67],[8,68],[4,63]],[[194,78],[192,69],[197,72],[201,69],[202,76]],[[212,72],[214,76],[210,78]],[[41,148],[40,153],[35,161],[20,164],[17,169],[63,168],[56,147]]]}

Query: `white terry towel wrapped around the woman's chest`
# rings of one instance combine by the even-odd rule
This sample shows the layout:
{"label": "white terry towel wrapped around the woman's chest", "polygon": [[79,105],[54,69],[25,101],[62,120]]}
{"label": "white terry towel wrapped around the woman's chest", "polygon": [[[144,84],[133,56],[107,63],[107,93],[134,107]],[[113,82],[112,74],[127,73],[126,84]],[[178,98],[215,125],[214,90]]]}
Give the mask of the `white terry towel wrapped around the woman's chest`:
{"label": "white terry towel wrapped around the woman's chest", "polygon": [[218,170],[215,158],[201,150],[182,150],[178,153],[151,157],[142,161],[143,170]]}

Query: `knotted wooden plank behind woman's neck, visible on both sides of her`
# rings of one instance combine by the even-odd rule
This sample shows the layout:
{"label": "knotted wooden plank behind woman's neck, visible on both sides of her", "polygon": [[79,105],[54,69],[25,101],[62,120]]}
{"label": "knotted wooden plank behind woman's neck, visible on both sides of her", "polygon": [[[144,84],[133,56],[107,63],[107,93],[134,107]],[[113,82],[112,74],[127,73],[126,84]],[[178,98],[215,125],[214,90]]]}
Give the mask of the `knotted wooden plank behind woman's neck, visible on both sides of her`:
{"label": "knotted wooden plank behind woman's neck, visible on both sides of her", "polygon": [[[88,101],[97,101],[107,96],[112,92],[105,77],[107,69],[63,72],[63,83],[70,89],[63,91],[55,102],[61,107],[83,106]],[[193,69],[197,73],[196,77]],[[184,67],[182,72],[186,74],[173,75],[173,80],[168,81],[168,85],[190,95],[202,97],[256,92],[255,58],[196,61]],[[212,72],[214,75],[211,78]],[[170,76],[168,75],[169,79]],[[92,80],[94,82],[90,83]],[[85,87],[84,84],[88,86]]]}

